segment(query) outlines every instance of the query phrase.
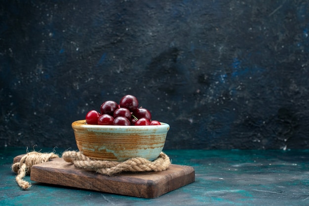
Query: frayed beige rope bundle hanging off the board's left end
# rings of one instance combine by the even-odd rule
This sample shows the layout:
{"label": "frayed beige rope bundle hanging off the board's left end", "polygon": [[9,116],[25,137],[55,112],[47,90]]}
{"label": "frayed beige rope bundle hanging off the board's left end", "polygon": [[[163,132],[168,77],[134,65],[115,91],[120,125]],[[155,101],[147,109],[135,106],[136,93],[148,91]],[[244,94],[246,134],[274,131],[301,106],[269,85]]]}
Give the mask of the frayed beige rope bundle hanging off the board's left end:
{"label": "frayed beige rope bundle hanging off the board's left end", "polygon": [[19,162],[12,165],[12,171],[17,173],[16,182],[22,189],[28,189],[31,187],[31,183],[24,180],[26,174],[30,174],[31,167],[33,165],[47,162],[52,158],[59,157],[55,153],[40,153],[29,152],[24,155]]}

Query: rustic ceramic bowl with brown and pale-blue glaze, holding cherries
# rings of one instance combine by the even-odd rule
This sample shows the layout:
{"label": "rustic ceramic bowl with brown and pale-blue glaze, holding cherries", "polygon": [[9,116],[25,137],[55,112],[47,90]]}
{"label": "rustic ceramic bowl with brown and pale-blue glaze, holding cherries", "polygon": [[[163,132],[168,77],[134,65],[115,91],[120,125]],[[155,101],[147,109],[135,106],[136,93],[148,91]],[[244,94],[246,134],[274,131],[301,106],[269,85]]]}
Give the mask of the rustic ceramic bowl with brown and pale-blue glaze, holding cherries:
{"label": "rustic ceramic bowl with brown and pale-blue glaze, holding cherries", "polygon": [[161,153],[170,126],[89,125],[86,120],[72,123],[77,148],[93,159],[123,162],[142,157],[155,160]]}

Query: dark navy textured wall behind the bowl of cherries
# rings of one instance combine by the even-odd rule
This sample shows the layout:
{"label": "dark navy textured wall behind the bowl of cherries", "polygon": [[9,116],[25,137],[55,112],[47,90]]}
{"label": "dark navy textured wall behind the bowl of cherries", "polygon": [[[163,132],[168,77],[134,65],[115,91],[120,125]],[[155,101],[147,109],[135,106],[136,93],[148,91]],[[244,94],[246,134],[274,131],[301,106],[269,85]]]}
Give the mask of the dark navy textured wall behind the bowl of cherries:
{"label": "dark navy textured wall behind the bowl of cherries", "polygon": [[0,145],[74,147],[138,97],[167,149],[309,145],[307,0],[0,2]]}

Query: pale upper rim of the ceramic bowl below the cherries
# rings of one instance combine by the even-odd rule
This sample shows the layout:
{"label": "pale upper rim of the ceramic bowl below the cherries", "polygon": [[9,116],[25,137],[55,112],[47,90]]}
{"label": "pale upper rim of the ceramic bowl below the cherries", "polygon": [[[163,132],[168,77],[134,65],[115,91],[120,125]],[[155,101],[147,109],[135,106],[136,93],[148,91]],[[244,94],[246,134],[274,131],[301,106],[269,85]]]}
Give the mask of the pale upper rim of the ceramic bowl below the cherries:
{"label": "pale upper rim of the ceramic bowl below the cherries", "polygon": [[72,127],[84,127],[84,128],[123,128],[123,129],[133,129],[133,128],[139,128],[139,129],[150,129],[150,128],[169,128],[170,125],[165,123],[165,122],[160,122],[161,125],[145,125],[145,126],[134,126],[134,125],[128,125],[128,126],[117,126],[117,125],[89,125],[85,124],[86,120],[81,119],[81,120],[76,120],[72,122]]}

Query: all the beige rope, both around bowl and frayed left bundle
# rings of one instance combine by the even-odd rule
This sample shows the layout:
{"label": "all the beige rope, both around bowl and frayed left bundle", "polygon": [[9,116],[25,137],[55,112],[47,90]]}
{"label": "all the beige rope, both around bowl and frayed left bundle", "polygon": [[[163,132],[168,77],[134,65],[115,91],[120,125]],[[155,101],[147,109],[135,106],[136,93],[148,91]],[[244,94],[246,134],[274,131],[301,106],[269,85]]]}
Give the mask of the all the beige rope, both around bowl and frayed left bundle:
{"label": "all the beige rope, both around bowl and frayed left bundle", "polygon": [[[109,176],[120,172],[160,172],[167,170],[171,165],[169,157],[163,152],[154,161],[141,157],[131,158],[124,162],[93,160],[76,151],[65,151],[62,157],[66,162],[73,163],[76,168]],[[52,158],[59,158],[59,156],[53,152],[40,153],[36,151],[24,155],[19,162],[12,165],[12,171],[17,173],[15,178],[17,184],[24,190],[30,188],[31,183],[25,181],[24,177],[26,174],[30,174],[31,167],[39,163],[48,162]]]}

